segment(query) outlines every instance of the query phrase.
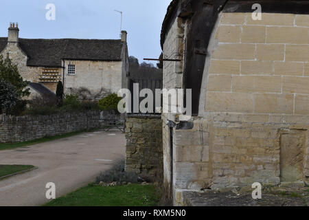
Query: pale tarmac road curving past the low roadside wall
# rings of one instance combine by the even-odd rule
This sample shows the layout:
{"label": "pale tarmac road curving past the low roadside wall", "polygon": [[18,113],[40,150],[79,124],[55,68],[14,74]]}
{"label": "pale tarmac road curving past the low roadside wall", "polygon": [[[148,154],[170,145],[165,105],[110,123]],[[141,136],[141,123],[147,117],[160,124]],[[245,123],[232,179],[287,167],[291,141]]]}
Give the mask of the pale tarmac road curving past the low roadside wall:
{"label": "pale tarmac road curving past the low roadside wall", "polygon": [[125,155],[120,132],[96,131],[0,151],[0,164],[34,165],[36,170],[0,180],[0,206],[40,206],[47,203],[46,184],[56,184],[56,197],[87,186]]}

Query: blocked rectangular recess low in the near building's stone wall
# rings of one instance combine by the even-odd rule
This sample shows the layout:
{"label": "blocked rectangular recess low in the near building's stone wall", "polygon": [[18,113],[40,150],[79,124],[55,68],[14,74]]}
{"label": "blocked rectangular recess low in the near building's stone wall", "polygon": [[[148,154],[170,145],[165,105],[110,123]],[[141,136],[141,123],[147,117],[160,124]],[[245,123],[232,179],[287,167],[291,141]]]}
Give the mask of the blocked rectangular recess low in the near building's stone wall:
{"label": "blocked rectangular recess low in the near building's stone wall", "polygon": [[304,155],[306,131],[290,131],[280,137],[281,181],[299,181],[304,179]]}

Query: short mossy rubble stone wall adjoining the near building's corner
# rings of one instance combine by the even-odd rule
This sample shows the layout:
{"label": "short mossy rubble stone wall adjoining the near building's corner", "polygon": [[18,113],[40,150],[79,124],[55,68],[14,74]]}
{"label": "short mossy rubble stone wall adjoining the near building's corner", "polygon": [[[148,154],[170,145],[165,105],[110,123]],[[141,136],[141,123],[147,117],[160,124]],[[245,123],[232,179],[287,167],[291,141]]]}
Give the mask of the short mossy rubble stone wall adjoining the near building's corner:
{"label": "short mossy rubble stone wall adjoining the near building's corner", "polygon": [[162,178],[161,115],[126,118],[126,171]]}

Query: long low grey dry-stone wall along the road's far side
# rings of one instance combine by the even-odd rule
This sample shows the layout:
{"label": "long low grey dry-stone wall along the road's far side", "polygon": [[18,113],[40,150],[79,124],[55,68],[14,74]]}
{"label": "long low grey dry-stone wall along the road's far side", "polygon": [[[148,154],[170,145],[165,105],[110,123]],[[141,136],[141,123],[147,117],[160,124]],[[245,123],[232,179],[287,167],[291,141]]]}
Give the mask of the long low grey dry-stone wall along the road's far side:
{"label": "long low grey dry-stone wall along the road's far side", "polygon": [[25,142],[73,131],[100,128],[100,111],[54,115],[0,115],[0,143]]}

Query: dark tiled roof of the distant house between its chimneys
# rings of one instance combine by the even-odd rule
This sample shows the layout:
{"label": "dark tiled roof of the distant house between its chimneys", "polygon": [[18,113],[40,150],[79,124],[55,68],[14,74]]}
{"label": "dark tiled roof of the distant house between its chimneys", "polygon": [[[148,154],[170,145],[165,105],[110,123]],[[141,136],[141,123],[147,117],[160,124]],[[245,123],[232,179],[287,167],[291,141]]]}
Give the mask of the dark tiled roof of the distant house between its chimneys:
{"label": "dark tiled roof of the distant house between its chimneys", "polygon": [[[0,52],[7,38],[0,38]],[[61,67],[62,59],[121,61],[121,40],[19,39],[19,47],[28,56],[27,65]]]}

